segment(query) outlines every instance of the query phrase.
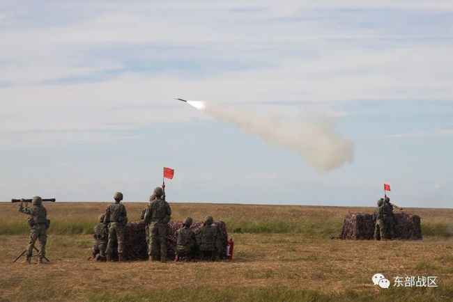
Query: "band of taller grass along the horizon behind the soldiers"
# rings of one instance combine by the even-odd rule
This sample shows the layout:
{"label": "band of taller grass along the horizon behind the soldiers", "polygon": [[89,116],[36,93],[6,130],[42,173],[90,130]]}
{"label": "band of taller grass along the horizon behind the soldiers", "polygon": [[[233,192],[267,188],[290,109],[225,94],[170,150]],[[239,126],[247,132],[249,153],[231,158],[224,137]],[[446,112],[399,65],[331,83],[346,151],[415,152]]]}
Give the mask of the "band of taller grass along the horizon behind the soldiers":
{"label": "band of taller grass along the horizon behind the soldiers", "polygon": [[[108,202],[61,202],[46,204],[52,221],[49,234],[91,234],[98,214],[105,211]],[[145,203],[125,202],[129,221],[139,221]],[[217,205],[171,203],[173,221],[191,216],[202,221],[212,215],[215,220],[227,223],[228,232],[245,234],[300,234],[306,237],[330,238],[341,232],[344,216],[348,212],[368,212],[372,207],[312,207],[266,205]],[[422,236],[453,237],[453,209],[405,209],[421,217]],[[26,215],[17,207],[0,202],[0,235],[29,233]]]}

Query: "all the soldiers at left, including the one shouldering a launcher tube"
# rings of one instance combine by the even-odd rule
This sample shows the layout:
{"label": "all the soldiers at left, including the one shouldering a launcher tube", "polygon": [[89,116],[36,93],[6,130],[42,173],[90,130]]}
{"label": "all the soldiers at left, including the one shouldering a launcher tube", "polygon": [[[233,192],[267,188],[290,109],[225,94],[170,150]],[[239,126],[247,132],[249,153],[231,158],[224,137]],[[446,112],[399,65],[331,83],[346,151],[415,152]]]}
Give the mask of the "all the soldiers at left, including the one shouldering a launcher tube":
{"label": "all the soldiers at left, including the one shouldering a launcher tube", "polygon": [[[167,261],[167,224],[171,218],[171,207],[165,201],[165,186],[154,189],[149,203],[142,213],[141,219],[146,223],[146,242],[150,261],[160,259]],[[95,260],[111,261],[114,249],[117,249],[118,261],[123,261],[125,226],[128,223],[128,213],[121,203],[123,193],[114,193],[114,202],[98,217],[99,224],[94,228],[92,257]],[[19,211],[28,214],[28,223],[31,226],[29,246],[26,249],[26,262],[31,263],[33,248],[36,240],[40,243],[39,261],[42,264],[45,258],[47,243],[47,228],[50,221],[47,219],[47,210],[39,196],[33,197],[32,207],[24,207],[21,200]],[[217,229],[213,225],[212,216],[204,218],[203,225],[195,232],[190,228],[192,218],[186,217],[183,227],[176,231],[176,261],[178,260],[215,260],[217,255]]]}

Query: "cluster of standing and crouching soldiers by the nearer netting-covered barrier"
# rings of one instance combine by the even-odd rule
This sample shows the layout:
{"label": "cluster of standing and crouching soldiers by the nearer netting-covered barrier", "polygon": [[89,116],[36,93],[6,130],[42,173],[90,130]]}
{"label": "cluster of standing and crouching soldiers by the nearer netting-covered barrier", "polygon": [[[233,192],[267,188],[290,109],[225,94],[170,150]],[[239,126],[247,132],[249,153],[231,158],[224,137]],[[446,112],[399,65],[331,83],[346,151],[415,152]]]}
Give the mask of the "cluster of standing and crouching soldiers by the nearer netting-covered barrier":
{"label": "cluster of standing and crouching soldiers by the nearer netting-covered barrier", "polygon": [[[171,218],[171,207],[165,200],[165,186],[154,189],[148,205],[141,213],[146,223],[146,243],[148,259],[167,262],[167,224]],[[100,214],[99,224],[94,228],[92,257],[95,260],[111,261],[114,248],[117,247],[118,261],[123,261],[124,229],[128,223],[128,214],[121,203],[123,193],[116,192],[114,200],[107,207],[105,214]],[[217,229],[212,216],[206,216],[204,224],[194,232],[190,229],[192,218],[186,217],[183,227],[177,230],[176,261],[215,260],[217,252]]]}

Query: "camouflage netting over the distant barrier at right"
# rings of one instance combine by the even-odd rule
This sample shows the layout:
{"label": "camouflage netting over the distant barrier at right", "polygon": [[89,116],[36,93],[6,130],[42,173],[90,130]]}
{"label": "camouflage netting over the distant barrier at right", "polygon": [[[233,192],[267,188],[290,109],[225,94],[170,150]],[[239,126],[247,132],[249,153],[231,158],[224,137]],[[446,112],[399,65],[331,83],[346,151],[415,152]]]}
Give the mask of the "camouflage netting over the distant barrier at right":
{"label": "camouflage netting over the distant barrier at right", "polygon": [[[395,238],[401,240],[422,239],[420,216],[404,213],[394,214]],[[364,240],[373,239],[374,222],[372,214],[348,213],[344,217],[343,228],[338,239]]]}

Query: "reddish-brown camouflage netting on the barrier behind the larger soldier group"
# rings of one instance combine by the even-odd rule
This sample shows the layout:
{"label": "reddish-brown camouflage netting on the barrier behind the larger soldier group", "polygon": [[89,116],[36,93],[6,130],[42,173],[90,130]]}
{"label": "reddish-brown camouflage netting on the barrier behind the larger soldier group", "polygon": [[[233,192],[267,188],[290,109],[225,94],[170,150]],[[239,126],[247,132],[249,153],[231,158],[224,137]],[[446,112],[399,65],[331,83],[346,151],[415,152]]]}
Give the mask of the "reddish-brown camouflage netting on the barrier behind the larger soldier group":
{"label": "reddish-brown camouflage netting on the barrier behind the larger soldier group", "polygon": [[[192,223],[190,227],[196,230],[203,223]],[[219,250],[217,255],[221,259],[227,256],[228,234],[227,225],[223,221],[215,221],[214,224],[217,228],[217,246]],[[167,257],[174,259],[176,248],[176,231],[183,226],[181,221],[170,221],[167,227]],[[146,244],[146,225],[141,222],[128,223],[125,228],[125,246],[124,246],[124,259],[125,260],[145,260],[148,259],[148,248]]]}

